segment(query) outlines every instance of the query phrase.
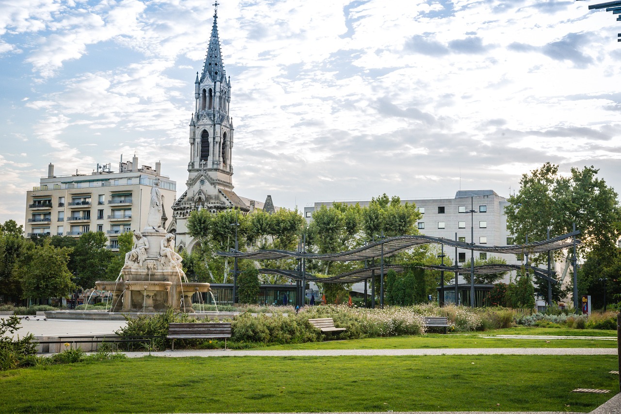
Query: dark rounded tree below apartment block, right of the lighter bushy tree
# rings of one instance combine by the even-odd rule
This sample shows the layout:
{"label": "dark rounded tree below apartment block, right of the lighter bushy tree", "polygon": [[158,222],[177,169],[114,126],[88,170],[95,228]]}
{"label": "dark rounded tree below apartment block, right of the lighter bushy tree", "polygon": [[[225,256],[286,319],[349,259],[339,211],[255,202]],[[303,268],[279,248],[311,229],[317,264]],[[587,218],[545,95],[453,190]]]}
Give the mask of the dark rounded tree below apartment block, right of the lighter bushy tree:
{"label": "dark rounded tree below apartment block, right of the lighter bushy tree", "polygon": [[73,264],[78,285],[95,287],[97,280],[106,280],[112,252],[106,249],[107,238],[102,231],[82,234],[73,249]]}

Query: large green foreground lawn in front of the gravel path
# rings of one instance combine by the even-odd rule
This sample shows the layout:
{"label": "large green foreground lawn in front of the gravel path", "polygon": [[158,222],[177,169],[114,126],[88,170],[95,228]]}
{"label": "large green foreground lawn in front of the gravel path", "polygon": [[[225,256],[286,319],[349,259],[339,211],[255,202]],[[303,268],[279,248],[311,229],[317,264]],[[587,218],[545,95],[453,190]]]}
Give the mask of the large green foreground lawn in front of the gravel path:
{"label": "large green foreground lawn in front of the gravel path", "polygon": [[616,356],[145,357],[2,372],[0,412],[590,412],[618,391],[616,368]]}

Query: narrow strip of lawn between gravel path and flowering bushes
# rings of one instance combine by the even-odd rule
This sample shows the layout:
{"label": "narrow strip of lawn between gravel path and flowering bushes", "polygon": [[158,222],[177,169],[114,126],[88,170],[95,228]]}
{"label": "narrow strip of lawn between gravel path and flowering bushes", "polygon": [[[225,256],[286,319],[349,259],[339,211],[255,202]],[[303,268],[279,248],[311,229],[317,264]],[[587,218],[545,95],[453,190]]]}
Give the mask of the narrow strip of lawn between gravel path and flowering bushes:
{"label": "narrow strip of lawn between gravel path and flowering bushes", "polygon": [[[498,331],[496,334],[502,334]],[[348,339],[304,344],[272,345],[253,349],[431,349],[431,348],[616,348],[617,341],[597,339],[507,339],[469,334],[426,334],[389,338]],[[334,338],[338,338],[335,335]]]}

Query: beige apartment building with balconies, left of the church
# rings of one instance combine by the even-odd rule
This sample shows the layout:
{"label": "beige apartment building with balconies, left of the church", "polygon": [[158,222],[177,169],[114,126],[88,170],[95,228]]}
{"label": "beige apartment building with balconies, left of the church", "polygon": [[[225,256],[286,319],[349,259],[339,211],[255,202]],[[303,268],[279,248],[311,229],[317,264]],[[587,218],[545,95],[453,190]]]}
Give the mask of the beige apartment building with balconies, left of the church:
{"label": "beige apartment building with balconies, left of the church", "polygon": [[[139,165],[138,157],[119,162],[119,170],[110,165],[90,174],[54,175],[52,163],[39,186],[26,192],[25,233],[31,236],[79,237],[88,231],[106,233],[112,250],[119,248],[118,236],[140,231],[147,223],[151,188],[160,187],[163,195],[163,221],[173,214],[176,183],[155,168]],[[168,223],[166,223],[168,224]]]}

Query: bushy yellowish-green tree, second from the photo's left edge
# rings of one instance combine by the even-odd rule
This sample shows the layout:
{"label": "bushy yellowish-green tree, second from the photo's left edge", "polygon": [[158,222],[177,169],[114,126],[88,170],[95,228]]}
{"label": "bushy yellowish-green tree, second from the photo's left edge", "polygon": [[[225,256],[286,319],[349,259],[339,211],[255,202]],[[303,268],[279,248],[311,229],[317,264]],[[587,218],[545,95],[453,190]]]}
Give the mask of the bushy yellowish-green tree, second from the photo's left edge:
{"label": "bushy yellowish-green tree, second from the photo's left edge", "polygon": [[70,248],[54,247],[49,239],[43,246],[29,241],[17,271],[24,288],[22,296],[30,299],[68,296],[75,288],[67,268],[70,253]]}

